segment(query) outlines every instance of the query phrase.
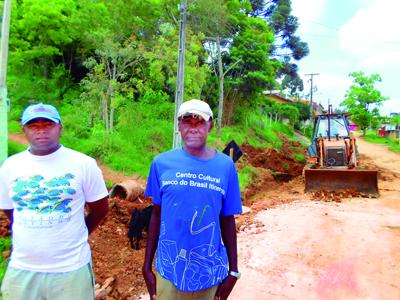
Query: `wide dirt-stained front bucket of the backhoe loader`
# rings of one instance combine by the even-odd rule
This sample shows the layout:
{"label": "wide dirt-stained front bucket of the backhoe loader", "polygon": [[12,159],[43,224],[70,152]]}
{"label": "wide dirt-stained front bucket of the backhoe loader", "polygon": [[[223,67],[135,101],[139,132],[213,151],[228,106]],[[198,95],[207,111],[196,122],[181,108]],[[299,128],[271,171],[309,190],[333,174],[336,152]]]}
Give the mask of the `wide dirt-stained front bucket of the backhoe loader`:
{"label": "wide dirt-stained front bucket of the backhoe loader", "polygon": [[378,195],[378,172],[357,169],[305,169],[306,192],[354,191]]}

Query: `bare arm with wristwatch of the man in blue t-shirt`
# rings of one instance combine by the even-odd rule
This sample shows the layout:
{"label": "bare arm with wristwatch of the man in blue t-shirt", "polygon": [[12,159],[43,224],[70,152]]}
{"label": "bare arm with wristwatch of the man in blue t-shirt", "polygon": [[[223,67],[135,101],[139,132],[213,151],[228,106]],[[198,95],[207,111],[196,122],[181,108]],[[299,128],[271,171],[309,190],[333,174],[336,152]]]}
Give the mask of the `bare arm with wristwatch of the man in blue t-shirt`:
{"label": "bare arm with wristwatch of the man in blue t-shirt", "polygon": [[[235,217],[233,215],[220,216],[220,226],[222,241],[224,242],[228,254],[229,271],[238,272]],[[228,299],[229,294],[236,284],[236,280],[236,277],[228,274],[224,281],[219,285],[215,296],[221,300]]]}

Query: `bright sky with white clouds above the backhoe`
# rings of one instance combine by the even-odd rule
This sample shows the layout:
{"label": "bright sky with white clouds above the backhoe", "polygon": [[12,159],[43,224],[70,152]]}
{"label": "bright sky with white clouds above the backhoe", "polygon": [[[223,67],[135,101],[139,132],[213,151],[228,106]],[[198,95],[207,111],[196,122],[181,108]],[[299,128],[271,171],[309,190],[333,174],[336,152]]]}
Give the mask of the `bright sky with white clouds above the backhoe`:
{"label": "bright sky with white clouds above the backhoe", "polygon": [[382,115],[400,112],[400,1],[399,0],[292,0],[296,32],[310,54],[297,61],[304,89],[313,101],[339,108],[352,85],[350,73],[379,74],[375,88],[389,100]]}

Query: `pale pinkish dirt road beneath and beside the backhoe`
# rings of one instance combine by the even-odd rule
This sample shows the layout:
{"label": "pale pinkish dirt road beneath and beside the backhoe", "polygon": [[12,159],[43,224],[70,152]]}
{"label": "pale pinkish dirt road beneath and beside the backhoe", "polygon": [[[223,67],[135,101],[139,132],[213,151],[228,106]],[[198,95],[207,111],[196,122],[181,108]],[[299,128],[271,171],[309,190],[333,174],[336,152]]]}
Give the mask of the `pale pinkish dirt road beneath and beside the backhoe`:
{"label": "pale pinkish dirt road beneath and beside the backhoe", "polygon": [[361,157],[380,171],[380,197],[337,203],[299,195],[261,210],[258,225],[238,235],[243,275],[232,300],[400,299],[400,155],[358,141]]}

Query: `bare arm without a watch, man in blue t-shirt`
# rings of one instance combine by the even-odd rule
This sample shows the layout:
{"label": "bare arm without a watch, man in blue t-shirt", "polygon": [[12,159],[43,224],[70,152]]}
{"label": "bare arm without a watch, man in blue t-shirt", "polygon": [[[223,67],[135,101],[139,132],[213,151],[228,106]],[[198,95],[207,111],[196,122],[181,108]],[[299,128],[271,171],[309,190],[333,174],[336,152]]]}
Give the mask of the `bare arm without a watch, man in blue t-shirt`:
{"label": "bare arm without a watch, man in blue t-shirt", "polygon": [[149,230],[147,233],[147,246],[142,268],[143,277],[146,281],[146,286],[150,295],[150,299],[156,299],[156,276],[153,273],[152,265],[154,255],[157,250],[158,237],[160,235],[160,224],[161,206],[154,204],[149,224]]}

